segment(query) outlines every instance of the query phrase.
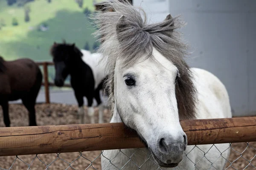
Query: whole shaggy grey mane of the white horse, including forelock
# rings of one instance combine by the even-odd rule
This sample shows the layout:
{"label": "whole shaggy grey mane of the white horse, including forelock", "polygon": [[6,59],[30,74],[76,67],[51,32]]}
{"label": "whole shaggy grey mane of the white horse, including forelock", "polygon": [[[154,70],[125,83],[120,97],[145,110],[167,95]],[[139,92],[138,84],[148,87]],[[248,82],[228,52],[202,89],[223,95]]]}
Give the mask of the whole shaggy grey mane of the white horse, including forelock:
{"label": "whole shaggy grey mane of the white horse, including forelock", "polygon": [[[116,60],[119,59],[123,67],[127,67],[141,59],[148,57],[154,59],[152,56],[154,47],[171,60],[180,72],[180,79],[176,85],[180,118],[194,118],[195,87],[189,66],[184,60],[188,46],[182,42],[180,33],[176,31],[184,24],[178,20],[178,17],[172,18],[170,15],[160,23],[148,24],[145,11],[132,6],[127,0],[112,0],[101,4],[104,6],[102,9],[104,12],[94,14],[93,20],[98,26],[95,34],[102,42],[98,52],[104,56],[103,60],[110,73],[107,87],[111,108],[114,103],[113,75]],[[144,19],[140,11],[144,13]]]}

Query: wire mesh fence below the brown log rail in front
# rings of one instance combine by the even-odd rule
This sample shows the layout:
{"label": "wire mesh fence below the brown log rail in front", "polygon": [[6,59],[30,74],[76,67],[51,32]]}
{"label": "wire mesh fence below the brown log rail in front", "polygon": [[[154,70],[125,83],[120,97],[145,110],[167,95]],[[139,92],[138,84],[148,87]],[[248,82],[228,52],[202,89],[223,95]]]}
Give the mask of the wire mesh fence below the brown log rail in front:
{"label": "wire mesh fence below the brown log rail in front", "polygon": [[[202,145],[195,145],[187,150],[183,161],[190,162],[191,170],[218,170],[218,160],[224,159],[225,170],[255,170],[256,169],[256,142],[230,143],[224,150],[218,149],[218,144],[210,145],[207,151],[201,149]],[[209,159],[211,150],[218,150],[218,156]],[[158,166],[154,161],[151,152],[144,148],[133,149],[134,152],[128,155],[123,149],[117,150],[111,158],[102,151],[76,152],[76,153],[56,153],[56,154],[38,154],[26,156],[3,156],[0,157],[1,170],[128,170],[127,167],[133,167],[133,170],[147,170],[146,164],[151,162],[154,166],[151,169],[165,170]],[[190,154],[192,150],[200,150],[200,159],[193,161]],[[228,159],[224,158],[224,153],[230,150]],[[145,160],[138,162],[135,155],[140,155]],[[122,157],[125,159],[123,164],[115,164],[116,160]],[[101,159],[108,161],[106,167],[101,167]],[[200,167],[200,163],[207,162],[207,167]],[[182,162],[180,163],[182,164]],[[174,170],[183,170],[180,167]]]}

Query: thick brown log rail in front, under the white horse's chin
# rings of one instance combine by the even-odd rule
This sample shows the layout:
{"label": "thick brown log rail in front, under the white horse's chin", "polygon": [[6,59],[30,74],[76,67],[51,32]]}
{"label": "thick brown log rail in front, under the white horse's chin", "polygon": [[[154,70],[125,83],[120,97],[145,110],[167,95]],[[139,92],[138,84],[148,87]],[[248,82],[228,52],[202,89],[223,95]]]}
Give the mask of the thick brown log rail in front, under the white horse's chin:
{"label": "thick brown log rail in front, under the white horse's chin", "polygon": [[[188,144],[256,142],[256,117],[182,120]],[[123,123],[1,127],[0,156],[140,148]]]}

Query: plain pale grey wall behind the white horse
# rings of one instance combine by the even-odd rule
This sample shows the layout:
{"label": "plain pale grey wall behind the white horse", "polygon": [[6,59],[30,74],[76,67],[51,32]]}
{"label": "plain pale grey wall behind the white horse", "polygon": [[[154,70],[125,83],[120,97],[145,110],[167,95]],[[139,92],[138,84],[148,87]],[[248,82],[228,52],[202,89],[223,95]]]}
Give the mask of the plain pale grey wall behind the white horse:
{"label": "plain pale grey wall behind the white horse", "polygon": [[134,0],[150,21],[181,14],[193,67],[215,74],[227,88],[233,116],[256,115],[255,0]]}

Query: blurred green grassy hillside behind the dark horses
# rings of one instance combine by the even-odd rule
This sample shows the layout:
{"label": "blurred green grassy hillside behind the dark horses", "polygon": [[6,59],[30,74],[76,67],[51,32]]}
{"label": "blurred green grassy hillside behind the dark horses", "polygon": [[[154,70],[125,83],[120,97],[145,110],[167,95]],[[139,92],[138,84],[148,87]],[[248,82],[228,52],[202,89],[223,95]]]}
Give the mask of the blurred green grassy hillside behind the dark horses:
{"label": "blurred green grassy hillside behind the dark horses", "polygon": [[[29,6],[30,21],[24,21],[24,8]],[[84,5],[79,8],[75,0],[35,0],[26,3],[23,7],[7,6],[6,0],[0,0],[0,20],[6,26],[0,29],[0,55],[5,59],[29,57],[34,60],[49,60],[49,47],[54,41],[75,42],[83,48],[88,42],[92,50],[95,42],[93,27],[83,14],[84,8],[93,11],[93,0],[84,0]],[[18,26],[12,26],[12,19],[16,18]],[[48,31],[38,31],[42,23],[49,26]]]}

